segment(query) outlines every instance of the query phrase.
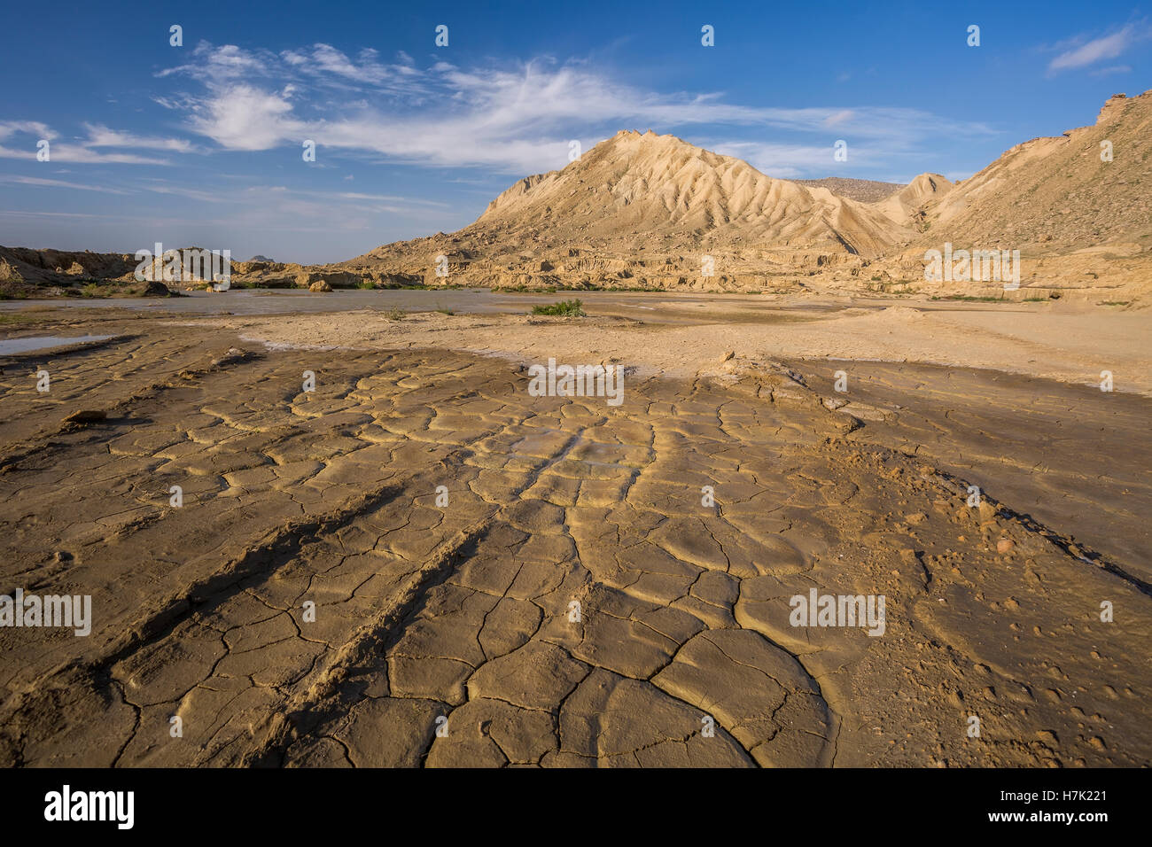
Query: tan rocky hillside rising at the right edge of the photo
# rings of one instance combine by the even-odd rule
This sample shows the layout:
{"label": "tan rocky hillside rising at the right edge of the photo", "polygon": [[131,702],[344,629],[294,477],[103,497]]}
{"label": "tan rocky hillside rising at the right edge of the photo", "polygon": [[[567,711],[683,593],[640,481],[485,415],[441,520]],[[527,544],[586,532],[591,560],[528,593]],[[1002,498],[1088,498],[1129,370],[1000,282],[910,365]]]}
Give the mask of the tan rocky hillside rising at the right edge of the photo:
{"label": "tan rocky hillside rising at the right edge of the photo", "polygon": [[1152,287],[1152,91],[1116,94],[1092,126],[1017,144],[955,186],[907,196],[917,182],[877,204],[917,230],[878,263],[885,282],[922,282],[925,250],[950,243],[1018,250],[1021,296],[1132,303]]}

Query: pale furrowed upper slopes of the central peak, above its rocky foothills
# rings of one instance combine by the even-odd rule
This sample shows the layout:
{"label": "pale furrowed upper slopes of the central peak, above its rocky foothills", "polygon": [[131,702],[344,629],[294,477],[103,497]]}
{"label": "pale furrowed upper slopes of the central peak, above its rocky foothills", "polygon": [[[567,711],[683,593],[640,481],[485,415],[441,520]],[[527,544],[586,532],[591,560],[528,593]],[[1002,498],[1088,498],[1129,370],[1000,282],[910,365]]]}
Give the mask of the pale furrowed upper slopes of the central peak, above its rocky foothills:
{"label": "pale furrowed upper slopes of the central peak, above its rocky foothills", "polygon": [[672,135],[622,131],[521,180],[473,227],[602,247],[802,245],[876,254],[893,221],[824,188],[765,176]]}

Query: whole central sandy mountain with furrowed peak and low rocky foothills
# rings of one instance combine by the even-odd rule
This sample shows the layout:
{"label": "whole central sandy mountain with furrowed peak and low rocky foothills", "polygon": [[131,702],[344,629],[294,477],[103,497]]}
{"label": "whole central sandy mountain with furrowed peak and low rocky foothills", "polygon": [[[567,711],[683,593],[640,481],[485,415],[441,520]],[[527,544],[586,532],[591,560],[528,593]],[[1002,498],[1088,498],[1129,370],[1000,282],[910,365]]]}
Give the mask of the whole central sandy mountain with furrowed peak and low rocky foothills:
{"label": "whole central sandy mountain with furrowed peak and low rocky foothills", "polygon": [[445,256],[447,281],[467,285],[759,290],[809,269],[858,265],[915,234],[903,207],[893,215],[672,135],[623,130],[561,171],[515,182],[471,226],[336,267],[442,282],[433,269]]}

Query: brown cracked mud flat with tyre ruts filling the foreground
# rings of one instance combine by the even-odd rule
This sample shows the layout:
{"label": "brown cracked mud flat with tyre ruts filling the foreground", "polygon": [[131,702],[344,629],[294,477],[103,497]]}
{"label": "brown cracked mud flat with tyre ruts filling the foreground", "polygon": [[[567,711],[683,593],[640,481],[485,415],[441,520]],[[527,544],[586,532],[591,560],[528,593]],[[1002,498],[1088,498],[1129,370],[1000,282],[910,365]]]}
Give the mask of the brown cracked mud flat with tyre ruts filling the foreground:
{"label": "brown cracked mud flat with tyre ruts filling the foreground", "polygon": [[[3,361],[0,592],[92,632],[0,629],[6,765],[1152,759],[1144,396],[854,363],[843,406],[843,363],[737,360],[611,407],[448,349],[73,330],[115,338]],[[790,626],[813,588],[884,634]]]}

